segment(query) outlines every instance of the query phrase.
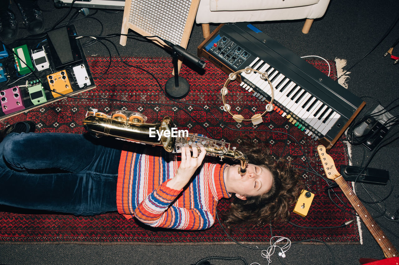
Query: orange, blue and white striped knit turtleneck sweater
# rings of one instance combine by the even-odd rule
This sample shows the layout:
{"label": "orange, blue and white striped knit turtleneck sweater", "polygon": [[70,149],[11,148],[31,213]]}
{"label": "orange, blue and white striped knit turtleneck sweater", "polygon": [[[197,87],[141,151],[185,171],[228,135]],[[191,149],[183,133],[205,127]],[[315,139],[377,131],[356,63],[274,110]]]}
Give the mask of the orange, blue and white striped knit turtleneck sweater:
{"label": "orange, blue and white striped knit turtleneck sweater", "polygon": [[231,196],[223,179],[227,164],[205,162],[188,186],[175,190],[166,183],[176,174],[180,160],[161,148],[138,146],[134,152],[122,151],[121,154],[118,212],[128,219],[135,216],[154,227],[185,230],[211,227],[217,201]]}

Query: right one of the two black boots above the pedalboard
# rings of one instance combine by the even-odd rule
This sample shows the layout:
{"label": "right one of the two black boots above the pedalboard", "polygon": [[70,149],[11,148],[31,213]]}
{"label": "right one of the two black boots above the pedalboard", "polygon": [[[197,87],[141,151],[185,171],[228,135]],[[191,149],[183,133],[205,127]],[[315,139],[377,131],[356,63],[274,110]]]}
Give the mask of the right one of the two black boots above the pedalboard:
{"label": "right one of the two black boots above the pedalboard", "polygon": [[24,1],[17,3],[21,11],[22,19],[26,29],[31,34],[40,34],[44,30],[43,14],[36,2]]}

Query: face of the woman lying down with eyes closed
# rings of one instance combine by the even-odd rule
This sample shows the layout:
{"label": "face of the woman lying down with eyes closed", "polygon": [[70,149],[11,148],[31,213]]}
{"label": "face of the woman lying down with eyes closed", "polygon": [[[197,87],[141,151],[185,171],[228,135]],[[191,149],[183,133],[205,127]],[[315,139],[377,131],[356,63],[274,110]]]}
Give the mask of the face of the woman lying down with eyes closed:
{"label": "face of the woman lying down with eyes closed", "polygon": [[235,193],[237,198],[245,200],[248,195],[262,195],[270,190],[273,177],[267,168],[248,164],[247,172],[241,176],[238,173],[239,167],[233,165],[225,169],[224,180],[227,192]]}

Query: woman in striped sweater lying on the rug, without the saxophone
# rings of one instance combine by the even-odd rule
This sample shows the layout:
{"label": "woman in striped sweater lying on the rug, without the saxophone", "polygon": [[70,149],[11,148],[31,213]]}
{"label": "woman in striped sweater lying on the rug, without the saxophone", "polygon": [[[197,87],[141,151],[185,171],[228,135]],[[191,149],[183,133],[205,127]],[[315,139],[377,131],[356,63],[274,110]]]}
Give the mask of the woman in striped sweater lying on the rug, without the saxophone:
{"label": "woman in striped sweater lying on the rug, without the saxophone", "polygon": [[34,128],[20,122],[0,131],[0,205],[84,216],[118,211],[154,227],[198,230],[213,225],[217,202],[232,194],[227,225],[286,222],[302,190],[290,166],[248,139],[240,150],[254,164],[241,176],[239,165],[203,163],[201,144],[192,154],[184,146],[180,162],[163,148],[126,150],[116,139]]}

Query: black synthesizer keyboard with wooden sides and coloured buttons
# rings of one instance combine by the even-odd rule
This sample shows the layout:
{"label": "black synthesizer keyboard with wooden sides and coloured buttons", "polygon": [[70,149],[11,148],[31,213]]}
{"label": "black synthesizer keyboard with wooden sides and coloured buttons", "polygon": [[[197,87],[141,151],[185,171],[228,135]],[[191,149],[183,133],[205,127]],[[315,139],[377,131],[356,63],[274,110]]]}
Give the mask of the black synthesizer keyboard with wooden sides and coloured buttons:
{"label": "black synthesizer keyboard with wooden sides and coloured buttons", "polygon": [[[250,23],[220,25],[198,47],[227,74],[250,68],[267,72],[274,109],[318,140],[327,150],[340,138],[365,102]],[[240,86],[257,99],[271,100],[267,80],[256,72],[237,75]]]}

